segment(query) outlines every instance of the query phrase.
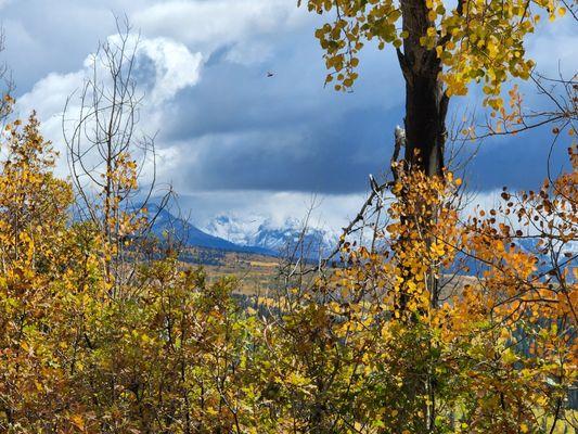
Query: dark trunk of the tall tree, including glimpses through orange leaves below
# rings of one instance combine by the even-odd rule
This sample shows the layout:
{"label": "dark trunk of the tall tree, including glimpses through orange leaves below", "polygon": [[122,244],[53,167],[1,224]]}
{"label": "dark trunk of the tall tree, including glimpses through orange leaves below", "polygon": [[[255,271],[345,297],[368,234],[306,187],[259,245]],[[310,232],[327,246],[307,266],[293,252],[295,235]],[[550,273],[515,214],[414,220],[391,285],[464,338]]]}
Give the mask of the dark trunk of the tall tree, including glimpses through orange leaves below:
{"label": "dark trunk of the tall tree, including glimpses through orange leaves below", "polygon": [[[422,37],[427,37],[428,28],[435,28],[427,14],[425,0],[400,0],[402,26],[408,37],[403,40],[403,52],[397,50],[399,64],[406,80],[406,153],[404,165],[408,170],[419,170],[427,177],[444,175],[444,152],[446,144],[446,115],[449,98],[444,91],[439,79],[441,61],[434,49],[423,47]],[[461,2],[460,2],[461,3]],[[429,30],[432,31],[432,30]],[[401,197],[403,200],[403,197]],[[427,206],[427,205],[425,205]],[[436,212],[431,209],[428,218],[436,219]],[[412,217],[402,217],[412,218]],[[426,222],[427,225],[427,222]],[[428,235],[426,235],[428,237]],[[429,244],[431,240],[426,240]],[[399,240],[403,245],[403,240]],[[411,243],[409,243],[411,244]],[[437,307],[439,285],[437,270],[431,268],[426,281],[431,291],[431,306]],[[401,267],[401,276],[410,281],[413,276],[411,268]],[[399,309],[407,310],[409,289],[401,289],[399,294]],[[435,376],[432,367],[423,367],[414,372],[408,372],[407,387],[414,392],[415,397],[422,397],[416,403],[424,414],[420,432],[434,432],[435,421]],[[418,379],[418,380],[416,380]],[[423,397],[427,396],[427,400]],[[418,398],[420,399],[420,398]],[[412,419],[413,414],[408,414]],[[415,420],[415,422],[418,422]]]}

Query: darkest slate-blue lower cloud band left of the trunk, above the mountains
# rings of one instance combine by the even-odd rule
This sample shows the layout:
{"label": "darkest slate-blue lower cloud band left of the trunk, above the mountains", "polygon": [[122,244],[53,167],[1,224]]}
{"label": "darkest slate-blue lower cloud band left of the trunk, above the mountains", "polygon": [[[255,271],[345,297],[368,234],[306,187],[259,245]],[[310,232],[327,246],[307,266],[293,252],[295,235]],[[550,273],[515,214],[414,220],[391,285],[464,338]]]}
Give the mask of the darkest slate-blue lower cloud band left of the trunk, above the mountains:
{"label": "darkest slate-blue lower cloud band left of the trunk, above the mountains", "polygon": [[[350,111],[335,123],[306,124],[248,132],[204,143],[182,174],[194,189],[296,190],[349,193],[363,190],[368,174],[386,166],[383,111]],[[359,133],[351,122],[362,118]],[[390,129],[389,129],[390,130]]]}

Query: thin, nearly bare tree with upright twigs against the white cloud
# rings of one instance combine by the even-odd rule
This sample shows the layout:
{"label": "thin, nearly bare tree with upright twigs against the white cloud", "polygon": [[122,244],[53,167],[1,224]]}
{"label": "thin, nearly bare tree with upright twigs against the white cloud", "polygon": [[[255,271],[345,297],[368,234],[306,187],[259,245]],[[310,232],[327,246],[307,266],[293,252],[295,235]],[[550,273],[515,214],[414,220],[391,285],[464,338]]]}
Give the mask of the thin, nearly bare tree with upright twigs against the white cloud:
{"label": "thin, nearly bare tree with upright twigs against the white cloud", "polygon": [[[156,154],[154,137],[138,127],[144,98],[134,77],[139,36],[119,20],[117,30],[91,58],[92,75],[80,91],[78,113],[68,118],[74,108],[70,97],[63,115],[78,213],[100,229],[110,250],[105,268],[113,294],[119,279],[133,276],[127,272],[127,247],[146,234],[171,196],[169,188],[156,213],[147,216],[151,196],[157,192]],[[146,164],[152,179],[143,189]]]}

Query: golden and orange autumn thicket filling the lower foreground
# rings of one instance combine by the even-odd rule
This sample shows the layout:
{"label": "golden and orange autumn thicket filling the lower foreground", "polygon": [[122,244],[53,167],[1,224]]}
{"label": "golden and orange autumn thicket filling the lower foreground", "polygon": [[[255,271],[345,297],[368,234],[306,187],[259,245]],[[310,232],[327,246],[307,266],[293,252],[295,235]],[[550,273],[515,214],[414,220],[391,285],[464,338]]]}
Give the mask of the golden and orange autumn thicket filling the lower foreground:
{"label": "golden and orange autumn thicket filling the lower foreground", "polygon": [[[501,206],[464,221],[460,180],[400,169],[387,248],[346,243],[347,266],[312,288],[242,306],[234,280],[209,284],[162,245],[152,259],[134,254],[132,278],[111,293],[115,247],[106,230],[72,218],[70,186],[53,176],[34,115],[9,125],[2,146],[2,432],[547,433],[569,423],[576,149],[554,182],[504,191]],[[118,179],[132,179],[130,158],[119,165]],[[457,267],[468,284],[448,292]]]}

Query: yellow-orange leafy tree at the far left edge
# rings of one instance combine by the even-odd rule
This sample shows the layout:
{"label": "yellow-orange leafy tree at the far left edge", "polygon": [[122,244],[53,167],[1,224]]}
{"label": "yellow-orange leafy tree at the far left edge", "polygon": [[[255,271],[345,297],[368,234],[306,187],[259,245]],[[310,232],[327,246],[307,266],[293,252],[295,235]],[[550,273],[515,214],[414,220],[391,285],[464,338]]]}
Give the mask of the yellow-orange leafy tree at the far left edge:
{"label": "yellow-orange leafy tree at the far left edge", "polygon": [[34,114],[24,127],[14,120],[1,142],[0,430],[8,432],[7,423],[54,426],[52,411],[66,399],[57,396],[57,340],[47,336],[60,328],[54,282],[67,281],[63,270],[74,251],[65,241],[73,194],[53,176],[55,153],[38,127]]}

